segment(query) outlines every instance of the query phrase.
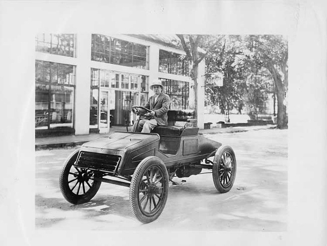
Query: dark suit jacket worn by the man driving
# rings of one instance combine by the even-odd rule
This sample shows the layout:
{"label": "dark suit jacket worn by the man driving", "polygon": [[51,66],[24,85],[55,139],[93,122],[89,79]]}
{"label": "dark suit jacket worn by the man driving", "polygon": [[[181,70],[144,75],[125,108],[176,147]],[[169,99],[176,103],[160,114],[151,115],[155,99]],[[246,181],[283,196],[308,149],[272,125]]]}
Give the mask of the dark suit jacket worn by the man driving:
{"label": "dark suit jacket worn by the man driving", "polygon": [[155,112],[154,119],[158,123],[159,126],[168,125],[168,116],[167,112],[169,110],[169,106],[171,104],[170,97],[161,92],[154,103],[154,95],[149,98],[145,108],[152,110]]}

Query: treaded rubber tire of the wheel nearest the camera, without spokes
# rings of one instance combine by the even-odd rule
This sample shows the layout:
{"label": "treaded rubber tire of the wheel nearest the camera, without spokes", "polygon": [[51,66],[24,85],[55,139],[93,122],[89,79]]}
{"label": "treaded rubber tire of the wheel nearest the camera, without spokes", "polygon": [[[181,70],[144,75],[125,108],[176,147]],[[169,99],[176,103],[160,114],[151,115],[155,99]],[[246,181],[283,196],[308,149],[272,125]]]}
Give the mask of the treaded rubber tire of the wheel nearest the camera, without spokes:
{"label": "treaded rubber tire of the wheel nearest the camera, without spokes", "polygon": [[[138,187],[140,184],[140,181],[143,177],[143,174],[151,167],[156,166],[157,168],[161,169],[163,173],[163,197],[161,198],[161,204],[159,209],[155,212],[155,214],[148,216],[145,215],[138,203]],[[154,220],[156,220],[160,214],[163,211],[163,208],[165,208],[167,198],[168,198],[168,191],[169,191],[169,176],[168,176],[168,171],[165,166],[165,164],[162,162],[161,159],[159,159],[156,156],[148,156],[144,158],[139,165],[136,167],[131,184],[129,187],[129,204],[130,204],[130,209],[133,213],[133,215],[142,223],[150,223]]]}

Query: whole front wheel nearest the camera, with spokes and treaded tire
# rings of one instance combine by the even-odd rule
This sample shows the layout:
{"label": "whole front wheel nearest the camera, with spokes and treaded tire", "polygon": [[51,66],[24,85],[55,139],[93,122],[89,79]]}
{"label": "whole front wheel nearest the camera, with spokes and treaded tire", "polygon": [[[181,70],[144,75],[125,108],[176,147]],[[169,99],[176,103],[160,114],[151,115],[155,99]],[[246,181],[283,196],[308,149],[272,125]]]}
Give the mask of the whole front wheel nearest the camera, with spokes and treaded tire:
{"label": "whole front wheel nearest the camera, with spokes and treaded tire", "polygon": [[134,216],[142,223],[156,220],[165,208],[169,177],[165,164],[156,156],[143,159],[132,177],[129,203]]}

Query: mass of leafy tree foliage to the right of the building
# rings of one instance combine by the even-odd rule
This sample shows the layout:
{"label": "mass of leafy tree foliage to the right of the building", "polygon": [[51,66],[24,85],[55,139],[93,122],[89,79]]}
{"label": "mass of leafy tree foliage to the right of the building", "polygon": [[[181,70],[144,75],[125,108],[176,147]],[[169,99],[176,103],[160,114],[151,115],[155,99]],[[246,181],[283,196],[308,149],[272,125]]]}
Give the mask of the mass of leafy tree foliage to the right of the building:
{"label": "mass of leafy tree foliage to the right of the building", "polygon": [[285,95],[288,87],[287,41],[278,35],[229,35],[206,60],[206,73],[224,74],[221,88],[207,88],[207,98],[219,105],[229,121],[229,112],[246,110],[251,119],[265,111],[272,84],[277,89],[278,127],[287,127]]}

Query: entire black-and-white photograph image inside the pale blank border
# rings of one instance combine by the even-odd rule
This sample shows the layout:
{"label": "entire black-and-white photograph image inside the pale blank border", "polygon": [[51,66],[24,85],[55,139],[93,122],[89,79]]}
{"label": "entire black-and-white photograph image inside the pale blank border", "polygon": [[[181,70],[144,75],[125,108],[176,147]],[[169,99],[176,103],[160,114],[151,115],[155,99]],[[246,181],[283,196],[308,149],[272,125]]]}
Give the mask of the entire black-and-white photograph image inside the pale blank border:
{"label": "entire black-and-white photograph image inside the pale blank border", "polygon": [[35,47],[36,228],[286,230],[285,37],[43,33]]}

